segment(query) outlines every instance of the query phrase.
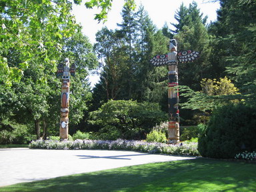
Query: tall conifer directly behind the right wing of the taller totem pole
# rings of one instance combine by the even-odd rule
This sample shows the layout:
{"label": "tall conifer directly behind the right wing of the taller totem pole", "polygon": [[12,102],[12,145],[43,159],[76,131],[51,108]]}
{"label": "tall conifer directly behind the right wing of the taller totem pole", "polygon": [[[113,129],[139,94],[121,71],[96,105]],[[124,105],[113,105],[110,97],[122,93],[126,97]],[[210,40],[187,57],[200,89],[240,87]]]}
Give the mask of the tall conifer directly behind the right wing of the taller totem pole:
{"label": "tall conifer directly behind the right wing of the taller totem pole", "polygon": [[193,2],[189,7],[181,4],[179,11],[175,14],[177,24],[172,24],[177,33],[174,38],[178,41],[179,50],[192,49],[201,53],[201,59],[194,63],[179,65],[179,85],[187,85],[191,89],[199,90],[200,81],[211,77],[211,63],[209,63],[209,35],[205,22],[197,3]]}

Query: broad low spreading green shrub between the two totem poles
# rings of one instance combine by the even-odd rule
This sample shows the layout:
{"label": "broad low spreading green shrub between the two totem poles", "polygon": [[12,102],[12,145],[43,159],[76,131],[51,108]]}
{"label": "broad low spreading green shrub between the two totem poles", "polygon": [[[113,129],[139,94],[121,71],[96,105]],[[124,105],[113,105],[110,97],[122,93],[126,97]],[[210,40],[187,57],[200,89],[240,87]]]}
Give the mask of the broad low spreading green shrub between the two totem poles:
{"label": "broad low spreading green shrub between the two totem poles", "polygon": [[157,103],[137,101],[113,101],[103,104],[90,113],[93,125],[100,133],[113,135],[112,139],[142,139],[156,124],[167,119]]}

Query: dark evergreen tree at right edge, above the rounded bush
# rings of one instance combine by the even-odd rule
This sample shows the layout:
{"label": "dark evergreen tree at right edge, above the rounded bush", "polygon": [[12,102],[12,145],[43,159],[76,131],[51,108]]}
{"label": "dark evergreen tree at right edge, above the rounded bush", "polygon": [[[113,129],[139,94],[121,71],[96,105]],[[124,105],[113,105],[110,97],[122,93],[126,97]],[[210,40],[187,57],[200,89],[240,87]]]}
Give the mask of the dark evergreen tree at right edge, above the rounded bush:
{"label": "dark evergreen tree at right edge, above the rounded bush", "polygon": [[217,62],[226,69],[247,103],[255,105],[255,1],[220,1],[217,21],[211,26],[216,36]]}

